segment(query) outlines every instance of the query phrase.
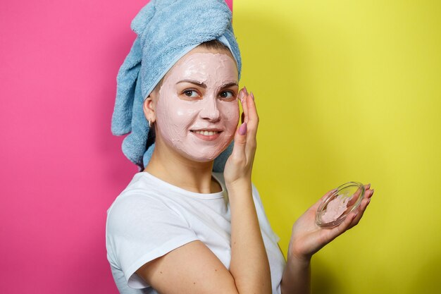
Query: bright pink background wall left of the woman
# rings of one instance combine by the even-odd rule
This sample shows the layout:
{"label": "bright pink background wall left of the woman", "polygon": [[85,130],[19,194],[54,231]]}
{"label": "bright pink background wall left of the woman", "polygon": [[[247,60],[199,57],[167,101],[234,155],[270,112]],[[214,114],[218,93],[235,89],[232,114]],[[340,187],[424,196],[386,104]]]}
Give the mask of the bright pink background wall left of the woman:
{"label": "bright pink background wall left of the woman", "polygon": [[0,293],[118,293],[106,209],[137,167],[111,114],[146,3],[1,2]]}

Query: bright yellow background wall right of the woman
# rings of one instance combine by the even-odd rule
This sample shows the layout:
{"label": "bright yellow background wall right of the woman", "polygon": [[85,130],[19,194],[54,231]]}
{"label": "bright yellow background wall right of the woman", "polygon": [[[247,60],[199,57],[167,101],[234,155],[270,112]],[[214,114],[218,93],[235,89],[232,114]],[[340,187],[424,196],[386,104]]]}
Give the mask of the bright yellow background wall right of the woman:
{"label": "bright yellow background wall right of the woman", "polygon": [[441,1],[235,0],[254,183],[280,246],[326,191],[372,183],[313,257],[314,293],[441,293]]}

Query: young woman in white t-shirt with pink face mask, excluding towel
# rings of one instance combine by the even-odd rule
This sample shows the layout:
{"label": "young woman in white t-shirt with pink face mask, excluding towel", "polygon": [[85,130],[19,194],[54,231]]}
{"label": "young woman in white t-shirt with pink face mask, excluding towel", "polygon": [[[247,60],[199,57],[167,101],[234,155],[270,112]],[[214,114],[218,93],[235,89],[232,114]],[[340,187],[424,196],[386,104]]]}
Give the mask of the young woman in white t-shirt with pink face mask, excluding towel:
{"label": "young woman in white t-shirt with pink face mask, excluding towel", "polygon": [[[208,2],[225,12],[223,1]],[[219,39],[225,41],[193,45],[142,95],[147,145],[153,140],[154,148],[106,223],[120,293],[309,293],[312,255],[359,222],[373,193],[366,185],[359,209],[332,229],[316,225],[314,204],[294,223],[285,261],[251,183],[259,124],[254,94],[239,90],[232,39]],[[213,172],[230,143],[223,172]]]}

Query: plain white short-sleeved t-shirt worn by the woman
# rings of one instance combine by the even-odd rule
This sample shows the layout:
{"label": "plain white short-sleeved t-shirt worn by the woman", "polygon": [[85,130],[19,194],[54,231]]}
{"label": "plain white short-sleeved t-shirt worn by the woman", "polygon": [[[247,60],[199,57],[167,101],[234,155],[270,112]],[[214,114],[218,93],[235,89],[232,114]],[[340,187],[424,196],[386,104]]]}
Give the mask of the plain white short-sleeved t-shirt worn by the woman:
{"label": "plain white short-sleeved t-shirt worn by the woman", "polygon": [[[120,293],[156,294],[135,271],[193,240],[201,240],[230,268],[231,215],[223,173],[213,173],[222,192],[201,194],[171,185],[145,171],[136,173],[107,210],[106,248]],[[271,268],[273,293],[280,294],[285,258],[256,187],[254,205]]]}

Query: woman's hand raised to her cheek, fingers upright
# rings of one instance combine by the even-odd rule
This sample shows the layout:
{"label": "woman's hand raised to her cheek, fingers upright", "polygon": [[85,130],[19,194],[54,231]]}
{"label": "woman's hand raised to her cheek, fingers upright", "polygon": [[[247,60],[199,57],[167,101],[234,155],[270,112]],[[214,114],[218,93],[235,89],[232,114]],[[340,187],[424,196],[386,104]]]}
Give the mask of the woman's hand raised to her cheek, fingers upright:
{"label": "woman's hand raised to her cheek, fingers upright", "polygon": [[233,187],[242,183],[251,183],[254,154],[256,154],[256,133],[259,125],[254,94],[247,88],[240,90],[237,98],[242,103],[242,125],[236,130],[232,154],[225,163],[225,185]]}

